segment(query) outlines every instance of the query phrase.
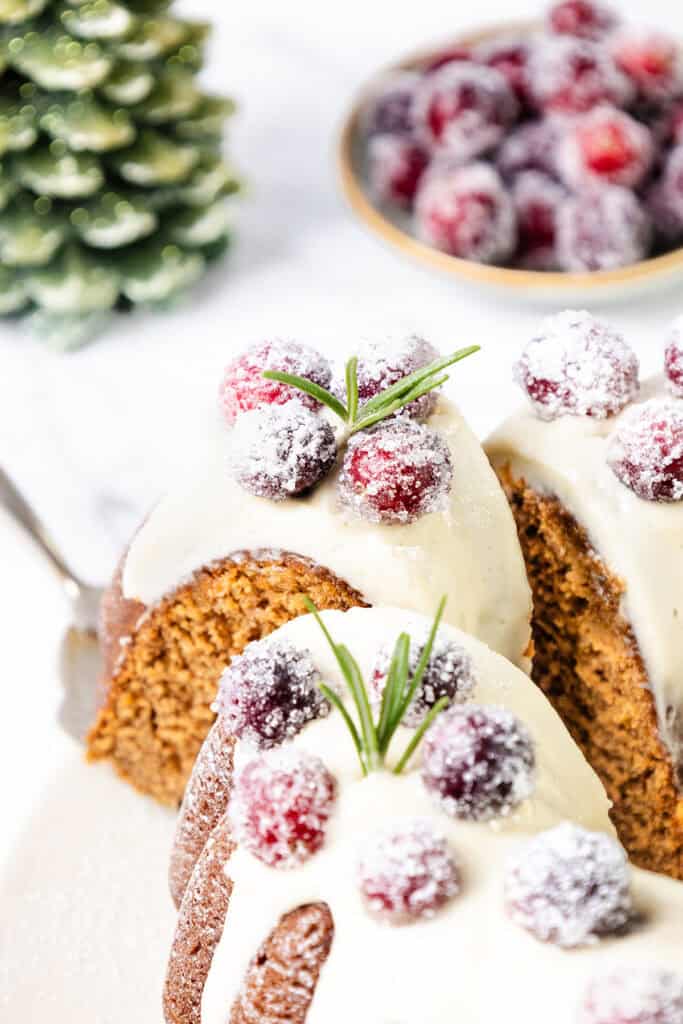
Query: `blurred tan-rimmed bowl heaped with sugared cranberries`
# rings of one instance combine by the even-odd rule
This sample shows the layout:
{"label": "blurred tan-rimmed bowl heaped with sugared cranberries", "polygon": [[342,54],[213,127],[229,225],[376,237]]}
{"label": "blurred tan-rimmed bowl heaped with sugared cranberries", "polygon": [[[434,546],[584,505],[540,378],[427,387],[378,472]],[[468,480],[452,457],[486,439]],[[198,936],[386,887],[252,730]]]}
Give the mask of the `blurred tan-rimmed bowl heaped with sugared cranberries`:
{"label": "blurred tan-rimmed bowl heaped with sugared cranberries", "polygon": [[683,278],[683,49],[616,8],[556,0],[377,76],[340,141],[354,212],[422,263],[531,301]]}

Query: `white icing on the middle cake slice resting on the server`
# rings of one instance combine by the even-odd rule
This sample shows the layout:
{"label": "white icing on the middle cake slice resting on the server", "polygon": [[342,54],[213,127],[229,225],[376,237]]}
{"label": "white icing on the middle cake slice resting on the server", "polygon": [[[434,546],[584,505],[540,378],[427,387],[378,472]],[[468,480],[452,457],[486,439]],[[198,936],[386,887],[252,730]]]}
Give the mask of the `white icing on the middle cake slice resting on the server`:
{"label": "white icing on the middle cake slice resting on the server", "polygon": [[248,494],[228,471],[230,432],[216,422],[196,475],[161,501],[134,538],[124,596],[153,605],[204,565],[274,549],[325,566],[370,604],[432,613],[447,594],[447,622],[523,664],[531,602],[512,514],[455,407],[440,398],[429,426],[451,450],[447,507],[408,525],[382,525],[340,508],[336,471],[304,498],[275,503]]}

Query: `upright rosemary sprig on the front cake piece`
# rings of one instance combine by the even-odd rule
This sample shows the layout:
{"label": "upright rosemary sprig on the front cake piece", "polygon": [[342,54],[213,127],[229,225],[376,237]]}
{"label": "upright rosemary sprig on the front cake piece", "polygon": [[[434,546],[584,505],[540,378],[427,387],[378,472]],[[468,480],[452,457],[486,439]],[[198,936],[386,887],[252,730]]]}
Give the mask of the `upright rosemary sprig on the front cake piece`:
{"label": "upright rosemary sprig on the front cake piece", "polygon": [[[346,727],[351,734],[351,739],[353,740],[353,745],[355,746],[356,754],[358,755],[358,761],[360,762],[360,769],[364,775],[368,775],[371,771],[378,771],[386,767],[385,760],[391,740],[393,739],[398,726],[403,721],[405,712],[408,711],[411,701],[413,700],[417,689],[422,682],[427,666],[429,665],[429,658],[431,657],[431,652],[434,647],[436,633],[443,615],[445,600],[445,597],[443,597],[439,602],[427,642],[423,647],[420,660],[418,662],[412,676],[410,667],[411,638],[408,633],[401,633],[396,640],[396,645],[389,664],[389,671],[387,673],[387,681],[382,695],[379,717],[378,720],[375,721],[370,697],[368,695],[368,687],[362,678],[358,663],[355,660],[345,644],[338,644],[335,642],[313,602],[309,597],[304,597],[304,604],[307,610],[314,615],[326,640],[330,644],[332,652],[337,659],[337,664],[353,699],[353,703],[355,705],[357,724],[353,721],[347,709],[344,707],[344,702],[339,694],[325,683],[318,684],[321,691],[328,698],[330,703],[334,705],[334,707],[342,714]],[[423,722],[421,722],[420,726],[416,729],[410,743],[393,768],[395,774],[400,775],[403,771],[420,745],[427,729],[432,724],[436,716],[447,708],[449,702],[447,697],[441,697],[436,701],[434,707],[430,709]]]}

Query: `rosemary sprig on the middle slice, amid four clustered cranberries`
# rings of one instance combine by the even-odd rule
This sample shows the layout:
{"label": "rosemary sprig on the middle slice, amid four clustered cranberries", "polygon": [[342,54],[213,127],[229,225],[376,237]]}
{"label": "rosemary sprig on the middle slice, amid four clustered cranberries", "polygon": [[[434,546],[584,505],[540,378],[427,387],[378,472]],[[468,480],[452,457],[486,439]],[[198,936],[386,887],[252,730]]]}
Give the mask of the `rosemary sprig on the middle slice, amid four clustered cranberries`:
{"label": "rosemary sprig on the middle slice, amid four clustered cranberries", "polygon": [[344,423],[348,434],[355,434],[358,430],[367,430],[387,416],[393,416],[404,406],[423,394],[440,387],[449,379],[449,374],[443,371],[447,367],[455,366],[461,359],[467,358],[479,351],[479,345],[470,345],[467,348],[460,348],[451,355],[442,359],[435,359],[426,367],[421,367],[415,373],[402,377],[395,384],[380,391],[379,394],[369,398],[368,401],[358,406],[358,359],[353,356],[346,364],[346,402],[340,401],[337,395],[319,384],[307,380],[305,377],[297,377],[295,374],[281,373],[279,370],[266,370],[263,376],[270,381],[279,381],[281,384],[289,384],[304,394],[309,394],[316,398],[328,409],[331,409],[335,416]]}

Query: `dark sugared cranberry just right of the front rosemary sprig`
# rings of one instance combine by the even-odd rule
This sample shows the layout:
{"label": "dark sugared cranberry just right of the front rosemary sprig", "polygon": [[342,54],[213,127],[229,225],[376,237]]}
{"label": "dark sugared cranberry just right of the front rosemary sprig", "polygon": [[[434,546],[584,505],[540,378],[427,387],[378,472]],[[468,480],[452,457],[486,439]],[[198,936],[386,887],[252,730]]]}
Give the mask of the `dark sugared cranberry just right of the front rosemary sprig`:
{"label": "dark sugared cranberry just right of the front rosemary sprig", "polygon": [[422,748],[422,780],[446,814],[488,821],[531,796],[536,754],[528,730],[504,708],[464,705],[439,716]]}

